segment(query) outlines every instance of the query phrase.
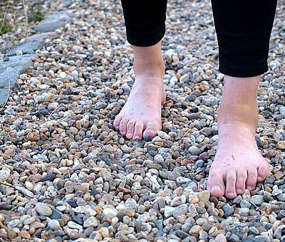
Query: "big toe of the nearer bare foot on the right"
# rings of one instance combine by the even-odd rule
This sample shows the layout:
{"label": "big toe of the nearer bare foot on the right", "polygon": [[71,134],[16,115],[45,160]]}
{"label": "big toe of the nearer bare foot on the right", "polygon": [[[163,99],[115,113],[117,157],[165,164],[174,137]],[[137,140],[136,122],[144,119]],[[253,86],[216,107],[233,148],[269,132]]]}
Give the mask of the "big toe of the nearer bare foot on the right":
{"label": "big toe of the nearer bare foot on the right", "polygon": [[209,172],[207,190],[212,196],[220,197],[224,195],[224,178],[222,172]]}

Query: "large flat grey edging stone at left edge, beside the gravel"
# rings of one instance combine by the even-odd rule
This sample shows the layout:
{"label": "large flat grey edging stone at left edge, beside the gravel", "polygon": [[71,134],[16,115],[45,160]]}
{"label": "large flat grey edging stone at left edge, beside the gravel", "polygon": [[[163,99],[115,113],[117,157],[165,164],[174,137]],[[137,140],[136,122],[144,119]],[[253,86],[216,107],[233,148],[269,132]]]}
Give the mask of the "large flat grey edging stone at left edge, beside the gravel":
{"label": "large flat grey edging stone at left edge, beside the gravel", "polygon": [[0,88],[13,86],[19,76],[32,65],[35,56],[11,56],[9,61],[0,61]]}

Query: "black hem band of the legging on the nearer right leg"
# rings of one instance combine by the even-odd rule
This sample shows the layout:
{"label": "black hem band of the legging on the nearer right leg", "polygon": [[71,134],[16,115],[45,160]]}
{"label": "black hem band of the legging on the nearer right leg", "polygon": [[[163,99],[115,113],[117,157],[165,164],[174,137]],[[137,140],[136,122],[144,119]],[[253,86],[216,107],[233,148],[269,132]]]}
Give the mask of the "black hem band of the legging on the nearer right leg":
{"label": "black hem band of the legging on the nearer right leg", "polygon": [[253,69],[239,69],[227,68],[224,65],[219,65],[219,72],[224,75],[229,75],[235,78],[251,78],[253,76],[262,75],[268,70],[268,65],[265,63],[260,68]]}

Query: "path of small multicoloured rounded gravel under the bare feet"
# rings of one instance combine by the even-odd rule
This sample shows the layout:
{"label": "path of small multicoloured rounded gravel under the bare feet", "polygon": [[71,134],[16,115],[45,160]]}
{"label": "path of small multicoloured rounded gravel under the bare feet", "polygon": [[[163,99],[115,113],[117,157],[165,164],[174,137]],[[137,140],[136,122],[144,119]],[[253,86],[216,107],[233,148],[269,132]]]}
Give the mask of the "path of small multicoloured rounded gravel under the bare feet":
{"label": "path of small multicoloured rounded gravel under the bare feet", "polygon": [[73,19],[1,109],[0,241],[285,241],[285,1],[258,96],[272,176],[234,200],[204,191],[223,79],[209,1],[168,5],[167,102],[150,142],[113,127],[133,82],[120,2],[49,3]]}

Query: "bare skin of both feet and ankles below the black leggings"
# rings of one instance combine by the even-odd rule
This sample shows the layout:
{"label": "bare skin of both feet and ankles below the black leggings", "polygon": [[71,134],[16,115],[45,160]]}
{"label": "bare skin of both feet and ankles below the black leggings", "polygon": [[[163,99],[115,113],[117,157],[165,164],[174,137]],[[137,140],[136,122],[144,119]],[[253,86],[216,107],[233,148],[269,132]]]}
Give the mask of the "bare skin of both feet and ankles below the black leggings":
{"label": "bare skin of both feet and ankles below the black leggings", "polygon": [[[133,51],[135,83],[125,106],[115,118],[114,127],[128,139],[149,140],[162,128],[165,65],[161,42],[149,47],[133,46]],[[271,174],[255,141],[259,80],[260,76],[224,76],[218,115],[219,141],[207,182],[212,196],[234,199],[245,189],[255,189],[257,182]]]}

